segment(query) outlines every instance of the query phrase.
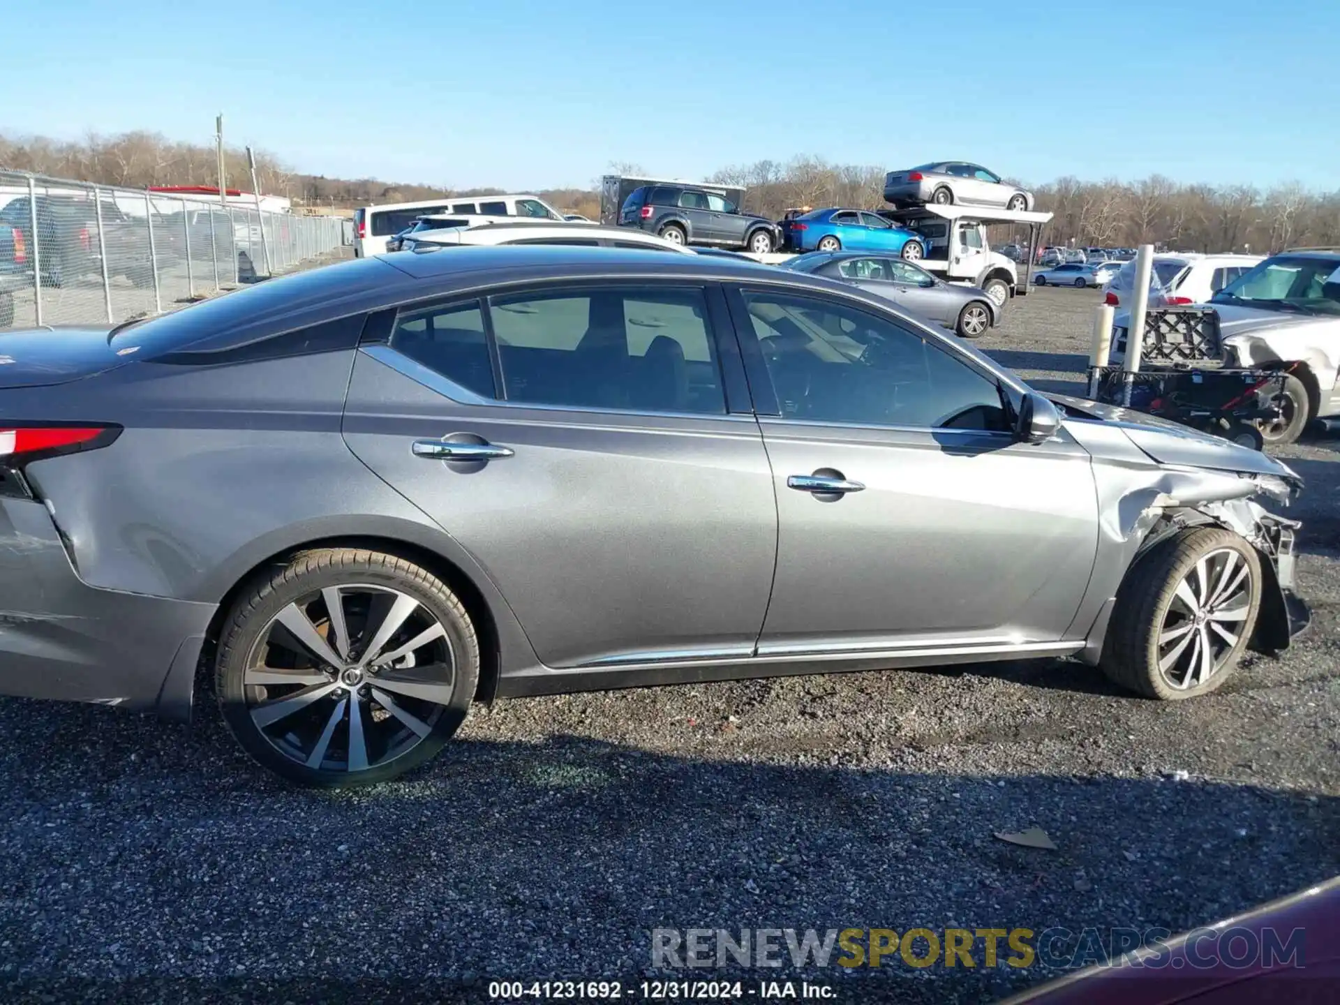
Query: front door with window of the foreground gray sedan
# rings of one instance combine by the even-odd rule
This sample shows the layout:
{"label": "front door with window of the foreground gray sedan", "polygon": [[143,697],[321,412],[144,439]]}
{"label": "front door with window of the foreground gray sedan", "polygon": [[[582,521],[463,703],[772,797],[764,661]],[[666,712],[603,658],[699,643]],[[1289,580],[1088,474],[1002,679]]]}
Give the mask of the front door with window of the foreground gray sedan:
{"label": "front door with window of the foreground gray sedan", "polygon": [[989,371],[859,302],[744,287],[732,311],[777,494],[760,658],[1064,650],[1097,545],[1088,454],[1016,442]]}

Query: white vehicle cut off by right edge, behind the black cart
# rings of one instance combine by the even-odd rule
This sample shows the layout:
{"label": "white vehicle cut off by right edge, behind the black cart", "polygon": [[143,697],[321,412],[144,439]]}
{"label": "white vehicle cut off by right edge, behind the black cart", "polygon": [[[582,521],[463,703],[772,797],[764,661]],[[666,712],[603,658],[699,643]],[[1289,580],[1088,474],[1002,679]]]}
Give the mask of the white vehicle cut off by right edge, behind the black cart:
{"label": "white vehicle cut off by right edge, behind the black cart", "polygon": [[[1340,421],[1340,251],[1281,252],[1206,302],[1219,315],[1225,366],[1289,370],[1280,417],[1260,426],[1265,442],[1292,444],[1312,419]],[[1128,327],[1130,315],[1118,315],[1111,364]]]}

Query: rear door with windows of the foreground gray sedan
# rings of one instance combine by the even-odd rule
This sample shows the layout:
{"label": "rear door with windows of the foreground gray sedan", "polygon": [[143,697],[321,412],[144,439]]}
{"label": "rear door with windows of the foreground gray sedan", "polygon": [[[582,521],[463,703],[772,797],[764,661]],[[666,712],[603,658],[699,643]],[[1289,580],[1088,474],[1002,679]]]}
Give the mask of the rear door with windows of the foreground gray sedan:
{"label": "rear door with windows of the foreground gray sedan", "polygon": [[368,326],[350,449],[488,571],[543,663],[750,654],[776,501],[716,287],[532,284]]}

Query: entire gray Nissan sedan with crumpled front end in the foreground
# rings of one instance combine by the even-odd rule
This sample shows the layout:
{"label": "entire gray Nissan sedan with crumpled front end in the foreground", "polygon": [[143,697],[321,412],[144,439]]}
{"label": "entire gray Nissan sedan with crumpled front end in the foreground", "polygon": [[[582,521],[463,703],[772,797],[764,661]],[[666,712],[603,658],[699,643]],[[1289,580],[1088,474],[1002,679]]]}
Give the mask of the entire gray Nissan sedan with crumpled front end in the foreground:
{"label": "entire gray Nissan sedan with crumpled front end in the foreground", "polygon": [[748,261],[401,252],[0,351],[0,691],[182,718],[200,667],[307,784],[507,695],[1075,657],[1185,698],[1305,611],[1284,464]]}

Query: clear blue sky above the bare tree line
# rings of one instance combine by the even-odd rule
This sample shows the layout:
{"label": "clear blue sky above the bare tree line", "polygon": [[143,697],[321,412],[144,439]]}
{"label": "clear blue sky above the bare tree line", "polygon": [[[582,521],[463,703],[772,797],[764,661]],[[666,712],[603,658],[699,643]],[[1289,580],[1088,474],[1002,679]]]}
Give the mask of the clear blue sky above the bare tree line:
{"label": "clear blue sky above the bare tree line", "polygon": [[1340,189],[1335,0],[8,7],[4,133],[212,142],[222,111],[296,170],[454,188],[817,154]]}

